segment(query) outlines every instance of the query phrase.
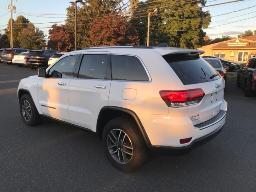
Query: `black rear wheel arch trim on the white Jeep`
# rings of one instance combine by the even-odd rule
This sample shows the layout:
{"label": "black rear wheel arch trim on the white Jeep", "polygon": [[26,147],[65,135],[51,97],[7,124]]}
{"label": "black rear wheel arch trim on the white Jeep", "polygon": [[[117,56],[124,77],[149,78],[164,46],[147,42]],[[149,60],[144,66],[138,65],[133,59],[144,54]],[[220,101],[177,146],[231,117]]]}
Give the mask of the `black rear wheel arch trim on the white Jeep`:
{"label": "black rear wheel arch trim on the white Jeep", "polygon": [[136,113],[132,110],[129,110],[126,108],[121,108],[121,107],[116,107],[116,106],[106,106],[100,110],[98,120],[97,120],[97,126],[96,126],[96,132],[100,139],[102,139],[102,131],[103,131],[105,125],[110,120],[117,118],[117,117],[129,117],[132,120],[134,120],[134,122],[138,125],[138,128],[139,128],[138,131],[140,132],[146,145],[151,145],[148,135],[146,134],[146,131],[145,131],[140,119],[136,115]]}

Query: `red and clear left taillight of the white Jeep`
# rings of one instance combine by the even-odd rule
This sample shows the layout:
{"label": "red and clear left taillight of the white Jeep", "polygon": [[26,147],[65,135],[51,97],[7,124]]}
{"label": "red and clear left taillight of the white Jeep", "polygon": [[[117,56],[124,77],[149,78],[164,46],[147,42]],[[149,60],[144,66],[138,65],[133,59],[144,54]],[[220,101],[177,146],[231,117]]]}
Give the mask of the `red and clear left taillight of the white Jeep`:
{"label": "red and clear left taillight of the white Jeep", "polygon": [[202,89],[184,91],[160,91],[162,100],[170,107],[181,107],[199,103],[204,97]]}

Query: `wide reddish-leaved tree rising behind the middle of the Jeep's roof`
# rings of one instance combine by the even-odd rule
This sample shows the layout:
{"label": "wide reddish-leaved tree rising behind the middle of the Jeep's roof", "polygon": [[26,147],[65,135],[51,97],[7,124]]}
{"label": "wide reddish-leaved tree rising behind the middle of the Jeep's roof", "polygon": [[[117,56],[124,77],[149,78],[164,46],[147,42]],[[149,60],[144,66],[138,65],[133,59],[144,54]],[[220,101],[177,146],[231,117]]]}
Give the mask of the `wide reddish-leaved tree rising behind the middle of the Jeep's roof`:
{"label": "wide reddish-leaved tree rising behind the middle of the Jeep's roof", "polygon": [[91,24],[92,46],[138,45],[138,33],[124,16],[108,14]]}

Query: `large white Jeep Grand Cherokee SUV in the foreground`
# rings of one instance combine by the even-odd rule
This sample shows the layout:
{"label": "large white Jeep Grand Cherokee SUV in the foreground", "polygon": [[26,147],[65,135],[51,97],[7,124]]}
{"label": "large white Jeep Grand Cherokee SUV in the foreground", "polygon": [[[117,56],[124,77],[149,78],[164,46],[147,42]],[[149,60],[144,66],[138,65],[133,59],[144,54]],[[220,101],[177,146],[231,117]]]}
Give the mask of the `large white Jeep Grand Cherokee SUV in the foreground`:
{"label": "large white Jeep Grand Cherokee SUV in the foreground", "polygon": [[94,132],[126,172],[149,150],[191,150],[221,132],[227,113],[225,81],[202,53],[148,46],[66,53],[20,81],[22,120],[35,126],[44,116]]}

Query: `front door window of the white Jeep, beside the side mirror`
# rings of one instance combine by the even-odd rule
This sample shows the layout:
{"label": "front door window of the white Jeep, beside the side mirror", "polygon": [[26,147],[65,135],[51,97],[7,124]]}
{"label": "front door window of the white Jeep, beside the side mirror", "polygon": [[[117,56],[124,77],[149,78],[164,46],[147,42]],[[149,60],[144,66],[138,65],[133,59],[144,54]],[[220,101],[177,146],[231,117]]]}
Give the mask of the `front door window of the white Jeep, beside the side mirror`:
{"label": "front door window of the white Jeep, beside the side mirror", "polygon": [[74,66],[77,58],[77,55],[70,55],[62,58],[48,70],[48,74],[52,78],[73,78]]}

